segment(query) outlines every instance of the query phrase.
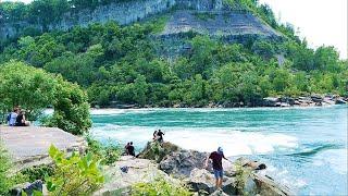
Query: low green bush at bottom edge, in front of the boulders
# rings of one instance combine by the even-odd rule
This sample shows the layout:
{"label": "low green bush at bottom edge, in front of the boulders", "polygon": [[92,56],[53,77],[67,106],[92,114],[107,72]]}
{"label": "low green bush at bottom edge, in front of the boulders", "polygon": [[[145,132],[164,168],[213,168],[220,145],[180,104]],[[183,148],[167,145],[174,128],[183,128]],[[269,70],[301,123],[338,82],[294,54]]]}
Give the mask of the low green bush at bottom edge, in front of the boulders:
{"label": "low green bush at bottom edge, in front of the boulders", "polygon": [[133,196],[189,196],[192,195],[187,187],[167,182],[163,176],[158,176],[151,183],[138,183],[132,186]]}

